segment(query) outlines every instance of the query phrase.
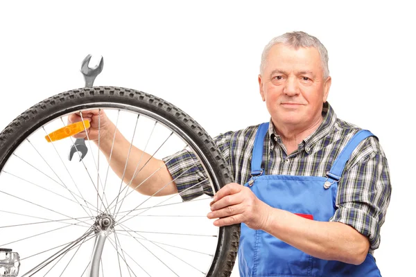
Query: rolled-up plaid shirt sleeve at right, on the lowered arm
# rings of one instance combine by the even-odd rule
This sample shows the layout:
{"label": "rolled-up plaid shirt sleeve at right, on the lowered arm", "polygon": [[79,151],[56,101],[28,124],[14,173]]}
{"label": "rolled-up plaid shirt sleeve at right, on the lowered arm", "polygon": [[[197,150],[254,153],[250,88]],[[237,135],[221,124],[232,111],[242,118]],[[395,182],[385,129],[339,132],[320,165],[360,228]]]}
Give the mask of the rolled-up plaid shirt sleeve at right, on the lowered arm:
{"label": "rolled-up plaid shirt sleeve at right, on the lowered arm", "polygon": [[380,229],[390,203],[388,162],[374,137],[354,152],[338,183],[338,209],[330,221],[352,226],[370,240],[370,251],[374,251],[379,247]]}

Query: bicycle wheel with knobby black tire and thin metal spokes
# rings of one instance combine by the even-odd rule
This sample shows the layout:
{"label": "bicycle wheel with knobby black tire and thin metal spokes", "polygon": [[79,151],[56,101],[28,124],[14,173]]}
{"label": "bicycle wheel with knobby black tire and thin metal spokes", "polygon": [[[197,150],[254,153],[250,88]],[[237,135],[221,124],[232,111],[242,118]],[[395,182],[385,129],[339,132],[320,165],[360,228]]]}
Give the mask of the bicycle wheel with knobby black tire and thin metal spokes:
{"label": "bicycle wheel with knobby black tire and thin metal spokes", "polygon": [[[206,217],[212,197],[141,195],[112,172],[111,155],[104,159],[94,143],[86,141],[82,161],[69,161],[73,138],[46,141],[69,114],[91,109],[105,112],[130,147],[157,159],[193,153],[211,190],[232,181],[209,135],[171,103],[119,87],[60,93],[0,134],[0,249],[19,254],[19,262],[7,265],[19,265],[19,276],[229,276],[239,224],[214,226]],[[103,222],[111,228],[97,251]],[[7,265],[0,263],[0,276],[15,276],[6,275]]]}

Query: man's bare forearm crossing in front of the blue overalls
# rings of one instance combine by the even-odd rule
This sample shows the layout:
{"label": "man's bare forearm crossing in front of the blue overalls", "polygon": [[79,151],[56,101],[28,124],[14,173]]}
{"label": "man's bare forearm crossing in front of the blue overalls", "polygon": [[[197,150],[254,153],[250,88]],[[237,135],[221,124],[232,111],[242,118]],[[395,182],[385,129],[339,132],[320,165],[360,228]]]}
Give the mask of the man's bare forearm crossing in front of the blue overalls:
{"label": "man's bare forearm crossing in front of the blue overalls", "polygon": [[308,220],[270,206],[267,209],[268,217],[261,229],[311,256],[354,265],[367,256],[370,242],[351,226]]}

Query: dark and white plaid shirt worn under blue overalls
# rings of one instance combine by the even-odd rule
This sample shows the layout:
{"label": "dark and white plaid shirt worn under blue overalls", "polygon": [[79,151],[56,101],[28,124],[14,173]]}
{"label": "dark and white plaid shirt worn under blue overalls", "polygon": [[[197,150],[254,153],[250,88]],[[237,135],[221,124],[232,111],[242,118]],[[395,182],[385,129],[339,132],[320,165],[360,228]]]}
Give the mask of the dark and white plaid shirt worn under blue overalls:
{"label": "dark and white plaid shirt worn under blue overalls", "polygon": [[[360,128],[337,118],[328,102],[323,105],[322,117],[320,127],[289,155],[270,120],[263,144],[262,168],[266,175],[325,176],[340,150]],[[250,179],[252,149],[258,127],[226,132],[214,139],[238,184],[245,184]],[[191,152],[184,150],[166,157],[164,161],[184,201],[204,193],[212,195],[205,172]],[[201,185],[190,188],[197,183]],[[338,209],[330,221],[352,226],[367,236],[372,252],[380,244],[380,228],[385,220],[390,193],[387,159],[379,141],[374,136],[369,137],[358,145],[345,165],[338,182]]]}

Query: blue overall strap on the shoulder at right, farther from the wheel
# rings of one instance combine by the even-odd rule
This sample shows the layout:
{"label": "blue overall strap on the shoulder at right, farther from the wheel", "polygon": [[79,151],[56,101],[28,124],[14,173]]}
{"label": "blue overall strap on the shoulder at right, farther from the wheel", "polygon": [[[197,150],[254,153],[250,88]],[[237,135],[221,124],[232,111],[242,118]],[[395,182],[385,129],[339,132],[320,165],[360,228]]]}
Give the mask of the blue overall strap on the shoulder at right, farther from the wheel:
{"label": "blue overall strap on the shoulder at right, farther from the wheel", "polygon": [[352,152],[356,149],[358,144],[361,143],[364,139],[367,139],[369,136],[374,136],[372,132],[368,130],[360,130],[349,140],[345,148],[340,152],[336,161],[333,163],[331,170],[327,172],[327,177],[335,180],[340,181],[341,175],[343,175],[343,171],[345,168],[345,164],[351,157]]}

